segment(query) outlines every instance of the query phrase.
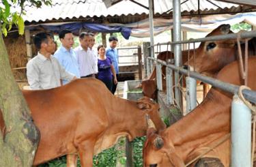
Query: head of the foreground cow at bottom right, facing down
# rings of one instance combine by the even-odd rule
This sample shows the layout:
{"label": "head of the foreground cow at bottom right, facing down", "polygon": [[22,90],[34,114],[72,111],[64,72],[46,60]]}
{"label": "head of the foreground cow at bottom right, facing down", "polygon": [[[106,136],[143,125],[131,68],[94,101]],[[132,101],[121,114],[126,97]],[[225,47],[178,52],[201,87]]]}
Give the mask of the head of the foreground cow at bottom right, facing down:
{"label": "head of the foreground cow at bottom right, facing down", "polygon": [[169,140],[167,142],[154,128],[147,130],[147,140],[143,147],[143,164],[144,167],[185,166],[182,158],[175,153],[172,142]]}

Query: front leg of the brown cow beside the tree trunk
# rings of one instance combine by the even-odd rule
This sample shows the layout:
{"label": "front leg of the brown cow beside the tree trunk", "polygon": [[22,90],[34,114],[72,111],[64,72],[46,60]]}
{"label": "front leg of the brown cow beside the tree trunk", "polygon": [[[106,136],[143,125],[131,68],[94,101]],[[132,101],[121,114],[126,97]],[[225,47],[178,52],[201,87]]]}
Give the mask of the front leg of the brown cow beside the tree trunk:
{"label": "front leg of the brown cow beside the tree trunk", "polygon": [[82,167],[92,167],[94,158],[94,142],[87,141],[79,145],[79,157]]}

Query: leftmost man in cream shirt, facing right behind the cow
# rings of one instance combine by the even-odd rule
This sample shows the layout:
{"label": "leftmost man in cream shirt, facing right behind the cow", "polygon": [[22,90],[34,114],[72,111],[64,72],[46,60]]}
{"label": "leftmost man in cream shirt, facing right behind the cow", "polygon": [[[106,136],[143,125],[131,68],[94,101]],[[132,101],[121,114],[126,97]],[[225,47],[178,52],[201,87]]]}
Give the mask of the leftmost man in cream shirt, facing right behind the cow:
{"label": "leftmost man in cream shirt, facing right behind the cow", "polygon": [[27,80],[31,89],[51,89],[61,86],[61,79],[76,79],[76,76],[66,72],[59,61],[51,55],[55,50],[51,34],[38,33],[33,42],[39,52],[27,63]]}

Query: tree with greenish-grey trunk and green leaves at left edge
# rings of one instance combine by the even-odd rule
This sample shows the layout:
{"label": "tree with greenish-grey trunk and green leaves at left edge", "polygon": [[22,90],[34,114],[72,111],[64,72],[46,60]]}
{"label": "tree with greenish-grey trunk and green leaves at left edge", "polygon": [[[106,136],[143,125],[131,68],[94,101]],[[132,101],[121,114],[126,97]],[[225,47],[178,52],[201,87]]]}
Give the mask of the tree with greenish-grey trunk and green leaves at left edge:
{"label": "tree with greenish-grey trunk and green leaves at left edge", "polygon": [[[12,25],[24,33],[21,17],[27,5],[40,7],[51,5],[51,0],[3,0],[0,2],[0,121],[3,116],[5,134],[0,131],[0,166],[32,166],[38,145],[39,132],[22,92],[18,88],[10,67],[3,35],[8,35]],[[20,12],[12,12],[11,6],[19,6]],[[3,34],[3,35],[2,35]],[[2,115],[1,115],[2,114]]]}

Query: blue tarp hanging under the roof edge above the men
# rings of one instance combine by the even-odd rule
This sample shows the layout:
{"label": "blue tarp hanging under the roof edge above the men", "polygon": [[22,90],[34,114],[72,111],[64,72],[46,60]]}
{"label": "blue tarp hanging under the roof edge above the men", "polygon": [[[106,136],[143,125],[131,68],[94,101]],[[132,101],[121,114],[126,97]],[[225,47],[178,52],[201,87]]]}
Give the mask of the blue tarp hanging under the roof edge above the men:
{"label": "blue tarp hanging under the roof edge above the men", "polygon": [[130,37],[130,33],[132,31],[129,27],[118,27],[118,26],[106,26],[97,23],[91,22],[72,22],[67,24],[59,24],[59,25],[36,25],[31,27],[26,27],[27,29],[38,29],[38,27],[42,27],[48,31],[52,31],[54,33],[59,33],[63,29],[68,29],[74,33],[74,35],[79,35],[79,31],[81,29],[87,29],[92,32],[100,32],[100,33],[122,33],[123,37],[128,40]]}

